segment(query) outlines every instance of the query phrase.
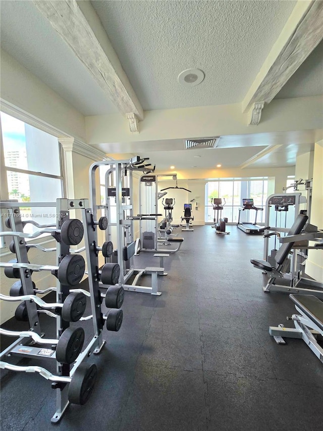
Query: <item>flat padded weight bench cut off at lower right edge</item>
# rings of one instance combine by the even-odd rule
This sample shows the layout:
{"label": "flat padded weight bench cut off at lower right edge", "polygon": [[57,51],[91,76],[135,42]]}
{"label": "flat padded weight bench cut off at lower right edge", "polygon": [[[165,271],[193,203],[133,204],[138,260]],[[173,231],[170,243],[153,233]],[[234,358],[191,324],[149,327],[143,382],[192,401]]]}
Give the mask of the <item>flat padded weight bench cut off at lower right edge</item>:
{"label": "flat padded weight bench cut off at lower right edge", "polygon": [[295,328],[285,328],[284,325],[270,326],[269,333],[277,344],[286,344],[283,337],[301,338],[311,351],[323,363],[323,348],[317,343],[316,337],[323,340],[323,302],[313,295],[290,295],[296,310],[293,314]]}

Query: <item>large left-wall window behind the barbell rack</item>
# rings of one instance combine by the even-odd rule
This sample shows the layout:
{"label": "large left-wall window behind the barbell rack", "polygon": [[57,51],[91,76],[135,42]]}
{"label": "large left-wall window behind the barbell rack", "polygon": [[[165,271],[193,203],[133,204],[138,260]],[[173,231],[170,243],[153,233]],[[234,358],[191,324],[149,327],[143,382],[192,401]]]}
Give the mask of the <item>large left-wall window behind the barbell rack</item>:
{"label": "large left-wall window behind the barbell rack", "polygon": [[[57,137],[3,112],[0,119],[2,199],[28,203],[56,202],[57,198],[62,198],[63,177]],[[55,213],[55,208],[48,207],[21,209],[23,220],[33,219],[40,224],[56,222]],[[32,225],[27,225],[25,230],[32,229]]]}

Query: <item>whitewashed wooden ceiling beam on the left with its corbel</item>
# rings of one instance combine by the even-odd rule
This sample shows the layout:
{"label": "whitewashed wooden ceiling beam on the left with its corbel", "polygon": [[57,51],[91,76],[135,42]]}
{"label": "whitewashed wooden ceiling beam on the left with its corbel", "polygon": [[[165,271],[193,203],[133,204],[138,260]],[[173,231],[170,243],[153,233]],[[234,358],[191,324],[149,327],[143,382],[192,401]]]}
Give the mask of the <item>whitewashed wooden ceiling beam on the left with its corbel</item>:
{"label": "whitewashed wooden ceiling beam on the left with its corbel", "polygon": [[113,52],[112,56],[114,62],[110,61],[77,2],[75,0],[60,2],[33,0],[33,3],[68,44],[118,110],[127,118],[130,115],[131,131],[138,131],[137,120],[143,120],[140,102],[120,62],[119,73],[114,67],[116,53]]}

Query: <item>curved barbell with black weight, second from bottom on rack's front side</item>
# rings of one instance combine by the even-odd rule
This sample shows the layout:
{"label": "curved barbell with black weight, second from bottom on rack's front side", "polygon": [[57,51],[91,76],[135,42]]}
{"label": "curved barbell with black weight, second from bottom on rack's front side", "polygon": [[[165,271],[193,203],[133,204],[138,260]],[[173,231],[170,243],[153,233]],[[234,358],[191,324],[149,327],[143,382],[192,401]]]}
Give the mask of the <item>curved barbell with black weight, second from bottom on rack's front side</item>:
{"label": "curved barbell with black weight, second from bottom on rack's front side", "polygon": [[85,333],[81,327],[68,327],[61,337],[56,339],[45,339],[33,331],[9,331],[0,328],[0,333],[8,337],[32,338],[37,344],[50,344],[56,350],[56,360],[63,364],[71,364],[81,353]]}

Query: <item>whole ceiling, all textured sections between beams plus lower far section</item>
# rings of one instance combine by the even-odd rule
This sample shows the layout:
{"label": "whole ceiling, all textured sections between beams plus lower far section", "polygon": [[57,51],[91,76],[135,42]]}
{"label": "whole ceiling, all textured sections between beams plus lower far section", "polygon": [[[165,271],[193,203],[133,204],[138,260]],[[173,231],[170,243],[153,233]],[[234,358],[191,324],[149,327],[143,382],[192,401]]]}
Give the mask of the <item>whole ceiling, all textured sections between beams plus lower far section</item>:
{"label": "whole ceiling, all textured sections between beams plus lower far section", "polygon": [[[241,103],[296,3],[90,2],[144,110]],[[119,112],[33,2],[0,0],[0,6],[2,49],[83,115]],[[205,78],[200,85],[185,88],[177,77],[189,68],[203,70]],[[276,98],[323,94],[322,70],[320,42]],[[98,147],[110,154],[149,157],[160,170],[168,169],[170,164],[178,169],[207,169],[215,163],[236,167],[266,146],[282,145],[253,162],[252,167],[283,167],[294,165],[297,154],[312,149],[314,133],[309,130],[222,136],[217,149],[200,153],[184,150],[180,139],[110,142]]]}

